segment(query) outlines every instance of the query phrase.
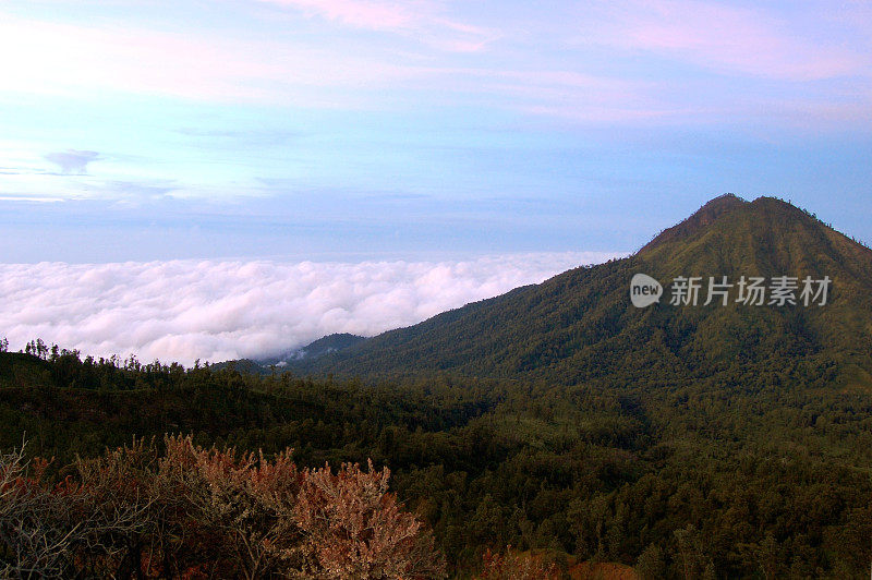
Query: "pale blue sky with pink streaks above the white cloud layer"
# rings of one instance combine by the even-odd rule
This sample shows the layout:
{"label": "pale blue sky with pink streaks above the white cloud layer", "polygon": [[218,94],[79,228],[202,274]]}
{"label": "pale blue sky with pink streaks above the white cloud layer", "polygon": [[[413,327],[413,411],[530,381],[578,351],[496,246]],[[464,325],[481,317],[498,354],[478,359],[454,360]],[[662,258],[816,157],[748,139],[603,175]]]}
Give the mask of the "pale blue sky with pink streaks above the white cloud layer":
{"label": "pale blue sky with pink streaks above the white cloud layer", "polygon": [[872,3],[0,1],[0,262],[872,241]]}

